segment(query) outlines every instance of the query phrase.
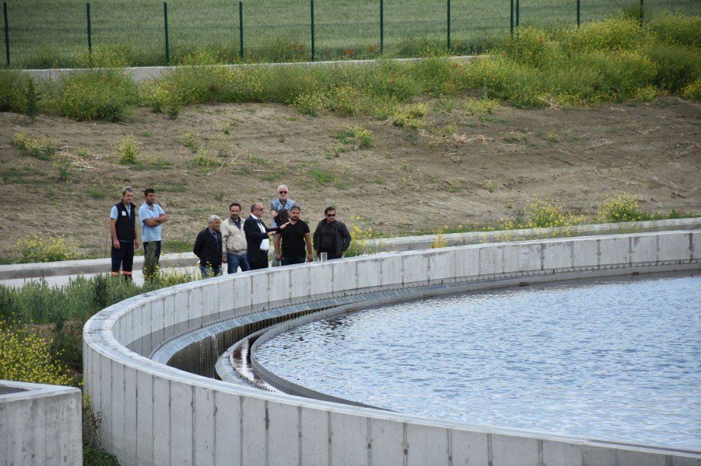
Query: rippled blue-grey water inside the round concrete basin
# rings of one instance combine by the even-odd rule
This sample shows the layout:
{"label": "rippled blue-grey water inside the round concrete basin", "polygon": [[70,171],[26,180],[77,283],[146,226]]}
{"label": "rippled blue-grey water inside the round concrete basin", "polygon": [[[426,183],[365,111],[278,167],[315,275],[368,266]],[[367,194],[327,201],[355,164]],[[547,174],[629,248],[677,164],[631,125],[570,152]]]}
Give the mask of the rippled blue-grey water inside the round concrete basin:
{"label": "rippled blue-grey water inside the round concrete basin", "polygon": [[701,449],[701,277],[519,288],[316,320],[259,347],[313,390],[411,414]]}

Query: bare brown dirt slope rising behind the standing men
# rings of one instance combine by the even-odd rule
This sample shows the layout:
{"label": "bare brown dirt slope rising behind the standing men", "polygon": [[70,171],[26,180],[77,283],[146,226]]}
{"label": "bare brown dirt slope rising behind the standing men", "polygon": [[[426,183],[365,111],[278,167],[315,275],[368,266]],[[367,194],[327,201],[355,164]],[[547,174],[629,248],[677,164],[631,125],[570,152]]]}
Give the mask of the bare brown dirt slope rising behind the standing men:
{"label": "bare brown dirt slope rising behind the standing men", "polygon": [[[433,113],[424,130],[277,104],[191,107],[176,120],[138,108],[121,123],[0,113],[0,248],[38,232],[104,255],[109,207],[126,184],[155,186],[170,216],[165,239],[186,242],[211,213],[226,215],[234,200],[269,202],[279,183],[313,223],[333,204],[341,220],[390,234],[492,222],[531,196],[590,212],[603,195],[626,191],[647,210],[701,213],[699,104],[665,97],[566,111],[501,107],[482,119],[460,98],[428,104],[452,109]],[[334,139],[346,125],[370,129],[372,148]],[[72,160],[69,179],[13,146],[18,132],[58,141]],[[136,166],[116,155],[129,134],[141,152]],[[79,148],[90,155],[79,158]]]}

